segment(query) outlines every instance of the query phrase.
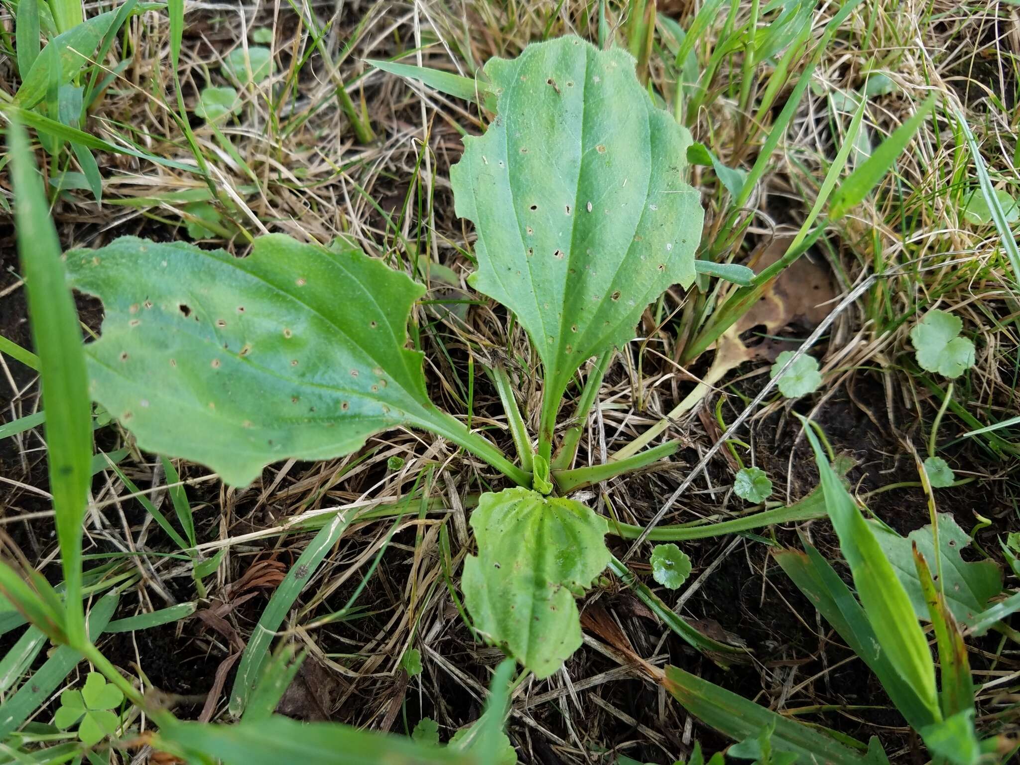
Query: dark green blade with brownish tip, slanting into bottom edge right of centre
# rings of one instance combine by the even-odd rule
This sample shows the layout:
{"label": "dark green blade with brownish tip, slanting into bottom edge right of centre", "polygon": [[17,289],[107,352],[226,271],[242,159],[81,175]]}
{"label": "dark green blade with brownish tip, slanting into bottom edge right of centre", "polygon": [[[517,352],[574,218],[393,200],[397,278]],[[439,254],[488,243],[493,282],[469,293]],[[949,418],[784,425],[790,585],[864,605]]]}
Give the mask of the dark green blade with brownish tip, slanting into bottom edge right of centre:
{"label": "dark green blade with brownish tip, slanting into bottom edge right of centre", "polygon": [[866,756],[800,722],[726,691],[674,666],[666,667],[663,686],[691,714],[735,741],[756,736],[774,725],[773,752],[797,755],[799,765],[867,765]]}

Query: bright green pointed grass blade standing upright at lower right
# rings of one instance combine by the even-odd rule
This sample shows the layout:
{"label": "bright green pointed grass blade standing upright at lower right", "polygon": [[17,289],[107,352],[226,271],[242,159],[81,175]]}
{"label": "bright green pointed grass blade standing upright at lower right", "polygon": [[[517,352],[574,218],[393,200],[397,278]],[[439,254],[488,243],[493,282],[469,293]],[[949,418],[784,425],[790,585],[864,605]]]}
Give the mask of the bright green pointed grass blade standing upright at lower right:
{"label": "bright green pointed grass blade standing upright at lower right", "polygon": [[[934,662],[912,600],[897,578],[903,572],[886,558],[872,524],[864,519],[857,502],[829,467],[811,423],[805,421],[805,424],[825,493],[825,507],[868,621],[892,666],[938,719]],[[909,548],[906,565],[914,569],[913,553]],[[927,609],[923,597],[921,609]]]}

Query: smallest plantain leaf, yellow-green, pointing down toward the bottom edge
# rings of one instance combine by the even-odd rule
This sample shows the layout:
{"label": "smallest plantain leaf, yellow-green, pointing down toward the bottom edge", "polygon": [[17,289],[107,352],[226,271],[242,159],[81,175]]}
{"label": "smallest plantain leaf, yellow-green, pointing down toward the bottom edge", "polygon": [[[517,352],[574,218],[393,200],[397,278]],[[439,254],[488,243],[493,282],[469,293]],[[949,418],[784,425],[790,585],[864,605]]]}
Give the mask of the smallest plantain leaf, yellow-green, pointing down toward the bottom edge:
{"label": "smallest plantain leaf, yellow-green, pointing down toward the bottom edge", "polygon": [[548,677],[581,643],[574,592],[608,565],[608,524],[579,502],[527,489],[486,493],[471,515],[478,555],[461,585],[475,628]]}

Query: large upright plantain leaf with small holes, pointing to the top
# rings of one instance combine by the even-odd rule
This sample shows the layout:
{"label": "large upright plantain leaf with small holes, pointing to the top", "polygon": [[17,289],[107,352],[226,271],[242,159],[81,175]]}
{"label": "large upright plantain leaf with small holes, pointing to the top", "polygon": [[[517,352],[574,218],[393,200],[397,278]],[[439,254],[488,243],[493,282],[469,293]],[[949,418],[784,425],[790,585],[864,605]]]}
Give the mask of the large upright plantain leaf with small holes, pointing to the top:
{"label": "large upright plantain leaf with small holes, pointing to the top", "polygon": [[477,232],[474,287],[517,315],[557,396],[585,359],[629,340],[664,290],[694,280],[691,137],[619,48],[565,37],[486,74],[499,113],[451,168],[456,211]]}

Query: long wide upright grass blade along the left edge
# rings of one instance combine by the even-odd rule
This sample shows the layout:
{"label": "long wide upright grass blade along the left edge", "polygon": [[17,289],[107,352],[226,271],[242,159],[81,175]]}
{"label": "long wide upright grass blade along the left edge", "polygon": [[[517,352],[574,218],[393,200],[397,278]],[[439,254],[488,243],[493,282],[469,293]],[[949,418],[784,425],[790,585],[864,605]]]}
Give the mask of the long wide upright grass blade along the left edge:
{"label": "long wide upright grass blade along the left edge", "polygon": [[39,353],[50,493],[56,514],[67,604],[67,633],[85,638],[82,613],[82,519],[92,478],[92,407],[78,311],[64,278],[60,242],[49,216],[42,177],[24,130],[8,130],[14,180],[14,220],[29,294],[32,336]]}

